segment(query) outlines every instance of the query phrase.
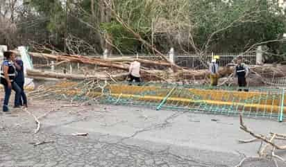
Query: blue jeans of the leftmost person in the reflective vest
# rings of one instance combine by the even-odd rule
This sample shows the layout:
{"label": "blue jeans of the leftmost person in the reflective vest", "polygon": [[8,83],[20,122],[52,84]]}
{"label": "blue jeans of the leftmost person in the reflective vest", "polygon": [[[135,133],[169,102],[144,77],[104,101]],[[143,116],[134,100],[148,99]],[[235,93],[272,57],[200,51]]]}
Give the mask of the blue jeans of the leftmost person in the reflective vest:
{"label": "blue jeans of the leftmost person in the reflective vest", "polygon": [[8,112],[8,103],[12,89],[15,91],[15,107],[20,105],[20,97],[22,91],[15,82],[12,82],[12,89],[8,88],[8,85],[4,85],[4,89],[5,89],[5,98],[3,102],[3,112]]}

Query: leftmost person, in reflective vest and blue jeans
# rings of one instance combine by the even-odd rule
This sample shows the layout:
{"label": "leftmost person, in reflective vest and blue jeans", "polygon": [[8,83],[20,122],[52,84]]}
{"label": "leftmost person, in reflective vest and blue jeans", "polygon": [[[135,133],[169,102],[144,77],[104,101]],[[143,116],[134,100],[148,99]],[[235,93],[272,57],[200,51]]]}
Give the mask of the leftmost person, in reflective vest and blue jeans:
{"label": "leftmost person, in reflective vest and blue jeans", "polygon": [[4,87],[5,90],[5,98],[3,101],[3,112],[8,112],[8,103],[9,103],[9,98],[11,95],[11,90],[13,89],[15,91],[15,106],[14,107],[19,107],[20,106],[20,94],[21,94],[21,89],[15,82],[15,76],[16,76],[16,69],[14,66],[15,62],[15,54],[6,51],[4,52],[4,61],[1,65],[1,84]]}

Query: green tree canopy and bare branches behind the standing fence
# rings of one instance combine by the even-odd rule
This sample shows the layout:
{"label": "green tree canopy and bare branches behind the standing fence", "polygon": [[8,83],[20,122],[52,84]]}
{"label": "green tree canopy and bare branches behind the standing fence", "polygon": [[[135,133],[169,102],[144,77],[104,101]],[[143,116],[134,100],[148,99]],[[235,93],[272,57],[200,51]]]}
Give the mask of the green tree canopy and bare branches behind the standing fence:
{"label": "green tree canopy and bare branches behind the standing fence", "polygon": [[33,40],[63,50],[67,37],[74,37],[96,53],[106,48],[148,53],[150,46],[162,53],[170,47],[177,52],[244,52],[262,43],[279,55],[286,48],[281,42],[286,19],[277,1],[25,0],[17,12],[15,45]]}

